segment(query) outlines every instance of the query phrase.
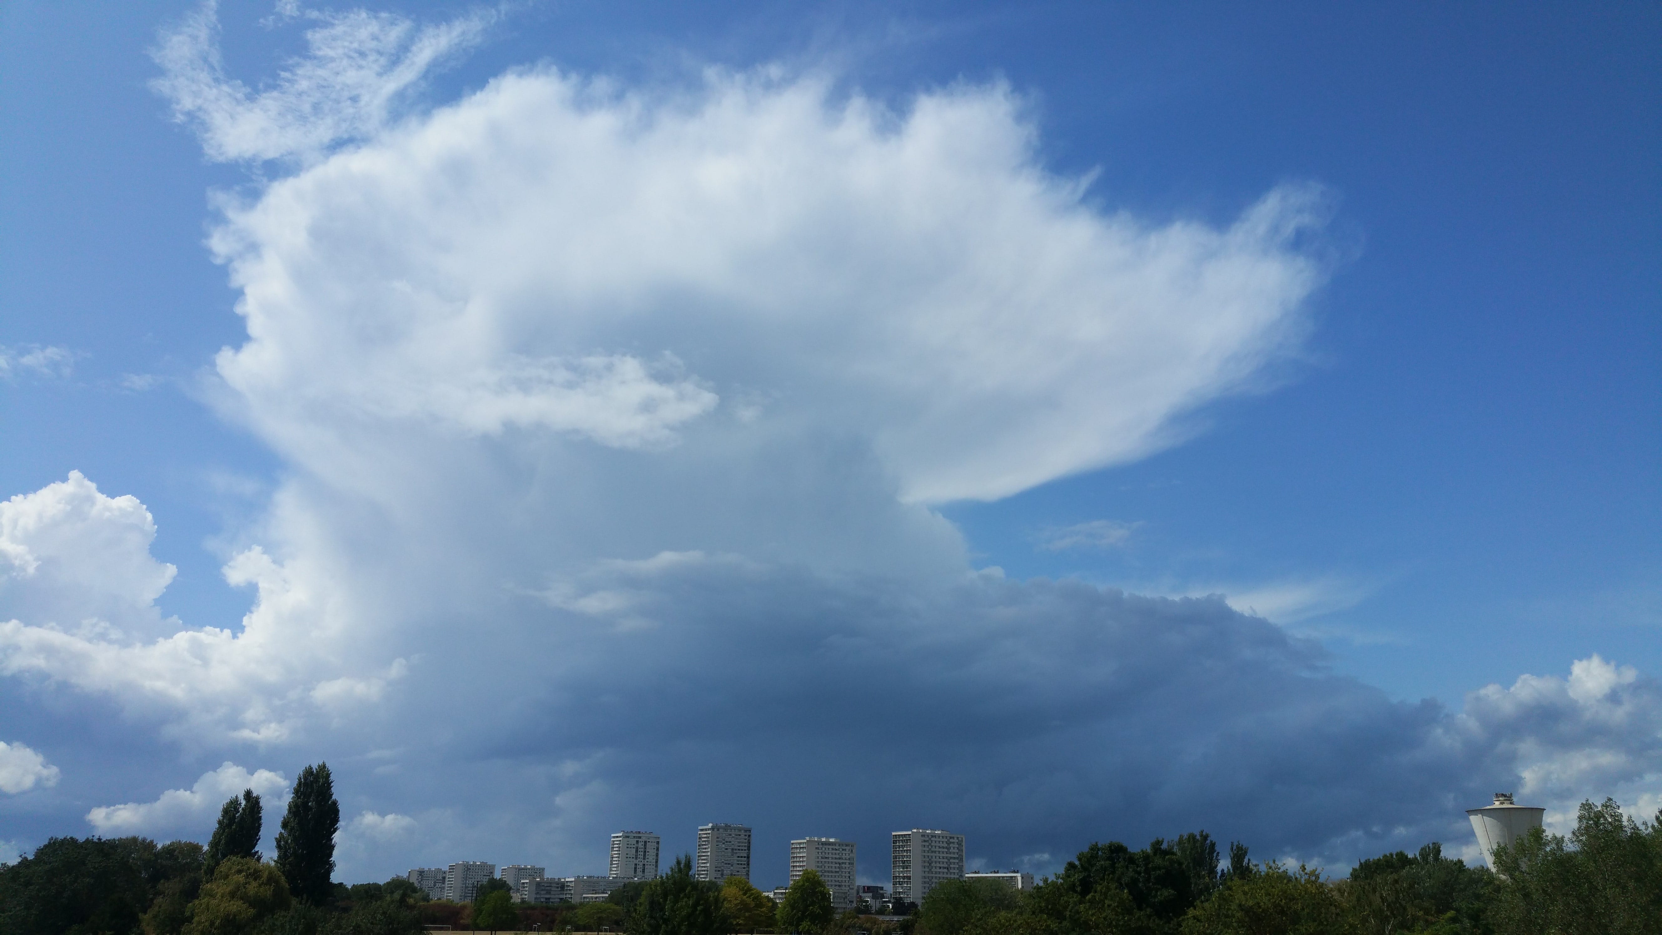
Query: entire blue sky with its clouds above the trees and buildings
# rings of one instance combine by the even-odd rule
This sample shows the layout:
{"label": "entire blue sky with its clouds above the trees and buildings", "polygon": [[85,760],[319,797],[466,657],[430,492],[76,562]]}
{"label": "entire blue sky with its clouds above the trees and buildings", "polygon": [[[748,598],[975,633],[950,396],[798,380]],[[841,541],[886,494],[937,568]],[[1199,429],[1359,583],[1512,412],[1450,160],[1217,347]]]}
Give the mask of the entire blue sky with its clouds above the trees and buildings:
{"label": "entire blue sky with its clouds above the trees and buildings", "polygon": [[[131,569],[88,611],[10,566],[0,740],[57,772],[17,760],[0,840],[203,837],[324,755],[366,878],[652,822],[881,882],[914,824],[1042,872],[1198,825],[1345,862],[1491,782],[1657,807],[1652,7],[372,10],[224,3],[171,65],[194,5],[0,13],[5,534],[73,571],[83,509]],[[279,78],[309,28],[457,22],[386,111]],[[111,674],[203,627],[264,636]],[[1237,692],[1276,700],[1208,725]]]}

